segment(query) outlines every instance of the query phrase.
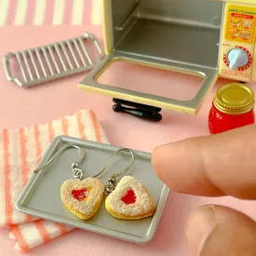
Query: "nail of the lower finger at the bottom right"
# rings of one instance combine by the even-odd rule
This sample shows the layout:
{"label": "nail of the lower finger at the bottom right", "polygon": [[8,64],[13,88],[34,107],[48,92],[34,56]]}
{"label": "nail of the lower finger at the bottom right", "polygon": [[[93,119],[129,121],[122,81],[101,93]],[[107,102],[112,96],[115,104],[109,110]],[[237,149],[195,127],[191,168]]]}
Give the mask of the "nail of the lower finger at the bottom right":
{"label": "nail of the lower finger at the bottom right", "polygon": [[215,224],[214,206],[203,206],[190,213],[186,223],[186,238],[192,256],[200,255]]}

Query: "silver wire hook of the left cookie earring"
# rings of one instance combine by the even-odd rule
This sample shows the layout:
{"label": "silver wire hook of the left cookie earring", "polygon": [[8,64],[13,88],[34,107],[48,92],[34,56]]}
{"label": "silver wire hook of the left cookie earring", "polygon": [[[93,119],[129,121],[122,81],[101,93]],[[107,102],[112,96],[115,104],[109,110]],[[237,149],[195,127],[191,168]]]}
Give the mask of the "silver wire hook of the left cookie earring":
{"label": "silver wire hook of the left cookie earring", "polygon": [[65,147],[62,147],[55,155],[53,155],[48,161],[47,163],[40,167],[40,168],[35,168],[34,169],[34,173],[37,173],[39,170],[41,170],[42,168],[47,167],[47,165],[49,165],[58,155],[61,155],[61,153],[69,148],[75,148],[79,151],[79,158],[72,164],[72,168],[74,171],[74,178],[76,180],[81,181],[83,176],[84,176],[84,170],[82,168],[79,168],[80,164],[82,163],[82,161],[84,160],[85,156],[86,156],[86,151],[83,148],[80,148],[76,145],[68,145]]}

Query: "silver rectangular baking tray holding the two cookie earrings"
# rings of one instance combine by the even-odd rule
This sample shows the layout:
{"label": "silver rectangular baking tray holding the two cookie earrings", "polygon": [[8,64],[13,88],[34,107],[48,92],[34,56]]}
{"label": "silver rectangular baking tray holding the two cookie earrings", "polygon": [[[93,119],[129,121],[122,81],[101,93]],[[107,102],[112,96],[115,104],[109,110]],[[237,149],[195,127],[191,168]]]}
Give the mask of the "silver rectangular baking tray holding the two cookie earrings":
{"label": "silver rectangular baking tray holding the two cookie earrings", "polygon": [[[94,141],[84,141],[66,136],[56,137],[43,155],[38,168],[42,167],[47,160],[56,152],[67,145],[77,145],[84,148],[86,157],[81,168],[86,171],[86,177],[91,177],[99,173],[105,167],[112,155],[119,147],[98,143]],[[105,209],[104,198],[101,208],[89,220],[81,221],[64,208],[61,202],[61,183],[74,178],[72,164],[78,158],[77,149],[71,148],[56,157],[47,168],[33,173],[31,179],[26,184],[16,202],[16,209],[53,222],[61,222],[76,228],[88,230],[105,236],[112,236],[128,242],[144,244],[149,242],[154,236],[162,211],[166,204],[169,189],[156,176],[151,164],[151,154],[133,151],[136,155],[134,167],[126,175],[133,176],[142,182],[149,193],[154,197],[156,209],[154,216],[137,221],[117,220]],[[105,184],[108,179],[117,171],[128,167],[130,155],[120,153],[115,156],[111,165],[100,177]],[[124,176],[122,176],[124,177]],[[118,178],[117,182],[122,178]]]}

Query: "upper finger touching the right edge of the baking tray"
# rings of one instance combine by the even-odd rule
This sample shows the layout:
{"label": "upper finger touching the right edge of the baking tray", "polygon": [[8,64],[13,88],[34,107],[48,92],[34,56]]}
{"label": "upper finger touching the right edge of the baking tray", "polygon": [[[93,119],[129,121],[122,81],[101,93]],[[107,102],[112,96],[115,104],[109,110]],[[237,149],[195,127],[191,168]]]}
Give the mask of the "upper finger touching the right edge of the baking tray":
{"label": "upper finger touching the right edge of the baking tray", "polygon": [[159,146],[152,164],[176,192],[256,199],[256,126]]}

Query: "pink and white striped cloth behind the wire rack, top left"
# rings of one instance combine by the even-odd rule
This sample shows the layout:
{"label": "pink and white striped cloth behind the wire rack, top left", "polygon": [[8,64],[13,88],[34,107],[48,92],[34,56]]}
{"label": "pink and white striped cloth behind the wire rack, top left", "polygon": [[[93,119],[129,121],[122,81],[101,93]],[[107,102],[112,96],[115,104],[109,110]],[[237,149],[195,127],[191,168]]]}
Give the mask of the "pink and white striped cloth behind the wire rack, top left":
{"label": "pink and white striped cloth behind the wire rack, top left", "polygon": [[0,26],[101,24],[101,0],[0,0]]}

